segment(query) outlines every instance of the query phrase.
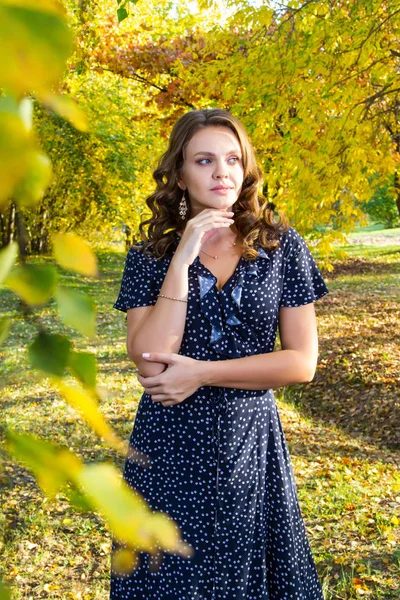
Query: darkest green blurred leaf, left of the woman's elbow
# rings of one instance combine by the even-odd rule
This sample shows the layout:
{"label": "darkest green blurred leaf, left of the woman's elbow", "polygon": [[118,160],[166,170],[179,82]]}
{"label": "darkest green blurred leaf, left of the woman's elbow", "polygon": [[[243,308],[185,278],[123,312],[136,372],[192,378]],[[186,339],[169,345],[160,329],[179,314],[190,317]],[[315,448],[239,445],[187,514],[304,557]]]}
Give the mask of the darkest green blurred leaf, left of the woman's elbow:
{"label": "darkest green blurred leaf, left of the woman's elbow", "polygon": [[56,377],[62,377],[68,364],[71,342],[57,333],[41,331],[28,348],[33,367]]}

